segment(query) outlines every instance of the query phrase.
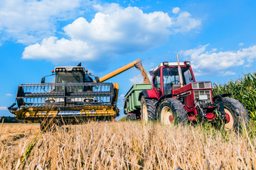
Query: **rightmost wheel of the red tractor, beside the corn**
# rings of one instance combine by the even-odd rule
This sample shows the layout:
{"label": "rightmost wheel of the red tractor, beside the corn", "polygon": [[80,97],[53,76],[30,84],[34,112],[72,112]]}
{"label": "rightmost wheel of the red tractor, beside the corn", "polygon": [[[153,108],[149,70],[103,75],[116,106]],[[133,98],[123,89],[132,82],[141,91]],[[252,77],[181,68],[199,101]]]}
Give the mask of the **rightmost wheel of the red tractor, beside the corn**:
{"label": "rightmost wheel of the red tractor, beside the corn", "polygon": [[242,123],[245,125],[249,122],[250,117],[245,107],[235,98],[223,98],[224,111],[228,114],[229,122],[225,124],[228,129],[240,129]]}

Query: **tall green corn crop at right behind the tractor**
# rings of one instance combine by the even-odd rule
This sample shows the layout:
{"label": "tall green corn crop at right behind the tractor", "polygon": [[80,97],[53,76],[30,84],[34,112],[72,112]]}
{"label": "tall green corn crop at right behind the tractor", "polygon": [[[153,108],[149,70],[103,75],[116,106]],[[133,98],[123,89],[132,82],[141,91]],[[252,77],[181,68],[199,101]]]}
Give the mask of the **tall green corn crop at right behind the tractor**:
{"label": "tall green corn crop at right behind the tractor", "polygon": [[231,94],[240,101],[248,111],[252,120],[256,120],[256,72],[245,74],[241,79],[229,81],[228,84],[214,84],[213,96]]}

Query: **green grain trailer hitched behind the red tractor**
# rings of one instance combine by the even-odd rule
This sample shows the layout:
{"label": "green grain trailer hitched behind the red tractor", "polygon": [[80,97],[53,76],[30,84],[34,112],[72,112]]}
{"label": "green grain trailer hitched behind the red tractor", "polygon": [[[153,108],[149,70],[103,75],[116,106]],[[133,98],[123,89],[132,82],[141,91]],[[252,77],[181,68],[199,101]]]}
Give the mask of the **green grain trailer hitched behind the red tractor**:
{"label": "green grain trailer hitched behind the red tractor", "polygon": [[139,93],[151,89],[151,84],[133,84],[124,96],[124,113],[135,113],[140,110]]}

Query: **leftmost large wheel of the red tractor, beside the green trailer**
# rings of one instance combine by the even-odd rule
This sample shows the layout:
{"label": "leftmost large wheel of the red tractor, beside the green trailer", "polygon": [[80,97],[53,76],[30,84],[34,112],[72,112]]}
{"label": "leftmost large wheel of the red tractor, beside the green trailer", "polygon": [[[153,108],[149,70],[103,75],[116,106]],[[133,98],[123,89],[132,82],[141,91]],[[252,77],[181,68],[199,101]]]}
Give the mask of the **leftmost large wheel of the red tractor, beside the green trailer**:
{"label": "leftmost large wheel of the red tractor, beside the green trailer", "polygon": [[141,98],[140,117],[143,123],[148,123],[149,120],[156,120],[156,99]]}

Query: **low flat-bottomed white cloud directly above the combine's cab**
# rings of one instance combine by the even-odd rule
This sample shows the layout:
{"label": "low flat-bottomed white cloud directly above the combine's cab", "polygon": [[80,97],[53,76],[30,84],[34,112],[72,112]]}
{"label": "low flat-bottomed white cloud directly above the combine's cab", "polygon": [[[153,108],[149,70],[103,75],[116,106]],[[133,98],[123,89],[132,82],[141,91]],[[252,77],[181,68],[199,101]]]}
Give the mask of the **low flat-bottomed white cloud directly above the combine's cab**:
{"label": "low flat-bottomed white cloud directly above the combine's cab", "polygon": [[[96,50],[95,50],[96,51]],[[29,45],[23,52],[23,59],[45,59],[52,62],[79,62],[93,60],[94,48],[81,40],[67,40],[56,37],[43,39],[41,44]],[[65,60],[65,61],[63,61]]]}

